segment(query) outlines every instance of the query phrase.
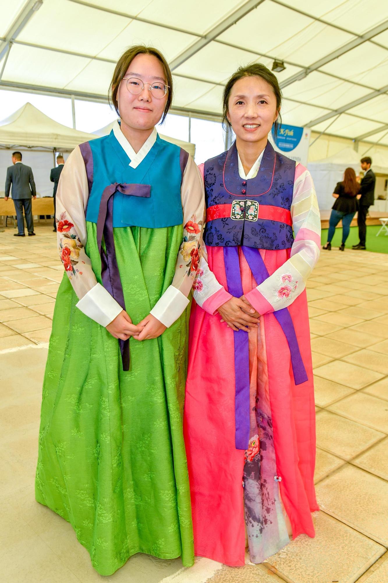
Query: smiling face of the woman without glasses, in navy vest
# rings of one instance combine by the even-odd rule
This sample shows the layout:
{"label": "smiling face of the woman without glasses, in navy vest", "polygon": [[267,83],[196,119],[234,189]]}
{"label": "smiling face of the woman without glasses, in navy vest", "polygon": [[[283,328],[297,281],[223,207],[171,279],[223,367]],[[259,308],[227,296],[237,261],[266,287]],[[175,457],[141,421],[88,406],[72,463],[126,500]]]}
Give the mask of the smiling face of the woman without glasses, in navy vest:
{"label": "smiling face of the woman without glasses, in navy vest", "polygon": [[272,87],[258,76],[239,79],[229,96],[227,117],[237,139],[259,142],[266,138],[278,117]]}

